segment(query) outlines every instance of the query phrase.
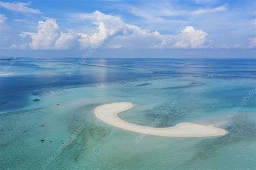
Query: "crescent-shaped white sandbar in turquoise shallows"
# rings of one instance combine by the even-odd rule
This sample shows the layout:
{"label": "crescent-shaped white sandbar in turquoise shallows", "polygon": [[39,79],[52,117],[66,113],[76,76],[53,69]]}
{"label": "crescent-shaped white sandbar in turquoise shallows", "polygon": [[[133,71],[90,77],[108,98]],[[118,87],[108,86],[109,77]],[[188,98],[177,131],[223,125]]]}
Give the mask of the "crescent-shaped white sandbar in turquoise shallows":
{"label": "crescent-shaped white sandbar in turquoise shallows", "polygon": [[228,133],[226,130],[213,127],[213,125],[206,126],[192,123],[179,123],[173,127],[153,128],[131,124],[118,117],[118,113],[132,107],[132,103],[127,102],[106,104],[95,108],[95,114],[98,119],[107,124],[133,132],[163,137],[219,137]]}

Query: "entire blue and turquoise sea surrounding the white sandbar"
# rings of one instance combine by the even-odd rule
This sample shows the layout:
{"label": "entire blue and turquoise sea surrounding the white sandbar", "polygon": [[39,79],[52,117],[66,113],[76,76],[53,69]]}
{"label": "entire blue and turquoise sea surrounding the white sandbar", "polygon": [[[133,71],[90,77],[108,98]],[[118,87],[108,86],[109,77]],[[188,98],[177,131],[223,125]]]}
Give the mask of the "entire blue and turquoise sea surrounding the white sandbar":
{"label": "entire blue and turquoise sea surrounding the white sandbar", "polygon": [[[0,77],[1,169],[256,168],[255,96],[228,117],[256,87],[255,60],[99,59],[66,76],[75,62],[20,59],[8,70],[13,75]],[[174,100],[157,127],[213,124],[229,134],[135,142],[138,133],[94,114],[99,105],[128,101],[134,107],[120,117],[149,126]]]}

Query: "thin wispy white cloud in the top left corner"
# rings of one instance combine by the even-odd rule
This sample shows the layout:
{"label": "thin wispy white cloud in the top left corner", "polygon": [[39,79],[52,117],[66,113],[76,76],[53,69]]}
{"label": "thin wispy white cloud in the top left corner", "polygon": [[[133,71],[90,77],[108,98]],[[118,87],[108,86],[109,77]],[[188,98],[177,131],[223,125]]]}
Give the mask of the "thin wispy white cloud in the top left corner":
{"label": "thin wispy white cloud in the top left corner", "polygon": [[24,12],[24,13],[37,13],[37,14],[42,13],[38,9],[29,8],[28,7],[29,5],[30,3],[23,3],[23,2],[13,2],[13,3],[0,2],[0,6],[12,11],[18,11],[18,12]]}

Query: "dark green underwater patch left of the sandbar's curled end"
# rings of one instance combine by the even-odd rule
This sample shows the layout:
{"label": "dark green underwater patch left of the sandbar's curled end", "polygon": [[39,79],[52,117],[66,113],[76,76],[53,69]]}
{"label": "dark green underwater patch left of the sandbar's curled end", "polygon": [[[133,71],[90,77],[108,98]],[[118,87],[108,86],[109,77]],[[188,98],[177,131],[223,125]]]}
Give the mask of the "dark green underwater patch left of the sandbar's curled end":
{"label": "dark green underwater patch left of the sandbar's curled end", "polygon": [[100,104],[84,105],[70,110],[69,112],[72,114],[64,121],[71,135],[76,133],[79,128],[81,129],[79,133],[76,133],[76,138],[62,152],[73,162],[78,162],[83,155],[91,153],[92,150],[97,152],[97,145],[102,143],[111,132],[107,128],[95,124],[93,111],[98,105]]}

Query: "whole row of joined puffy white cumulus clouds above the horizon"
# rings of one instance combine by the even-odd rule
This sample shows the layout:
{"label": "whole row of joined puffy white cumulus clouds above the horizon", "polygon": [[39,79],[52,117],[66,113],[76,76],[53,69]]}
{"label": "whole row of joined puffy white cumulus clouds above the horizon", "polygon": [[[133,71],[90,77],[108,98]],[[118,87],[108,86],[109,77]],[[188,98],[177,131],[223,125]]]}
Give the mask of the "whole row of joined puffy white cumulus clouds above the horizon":
{"label": "whole row of joined puffy white cumulus clouds above the horizon", "polygon": [[[89,22],[93,26],[84,32],[61,31],[55,19],[38,22],[37,32],[22,32],[19,36],[29,36],[31,41],[27,44],[14,44],[12,49],[63,49],[72,47],[88,48],[99,45],[108,49],[133,48],[133,49],[161,49],[166,48],[197,49],[209,47],[207,33],[187,26],[175,36],[161,35],[157,30],[149,31],[139,26],[127,24],[120,17],[105,15],[102,12],[76,13],[73,18],[77,22]],[[103,42],[107,42],[103,44]]]}

